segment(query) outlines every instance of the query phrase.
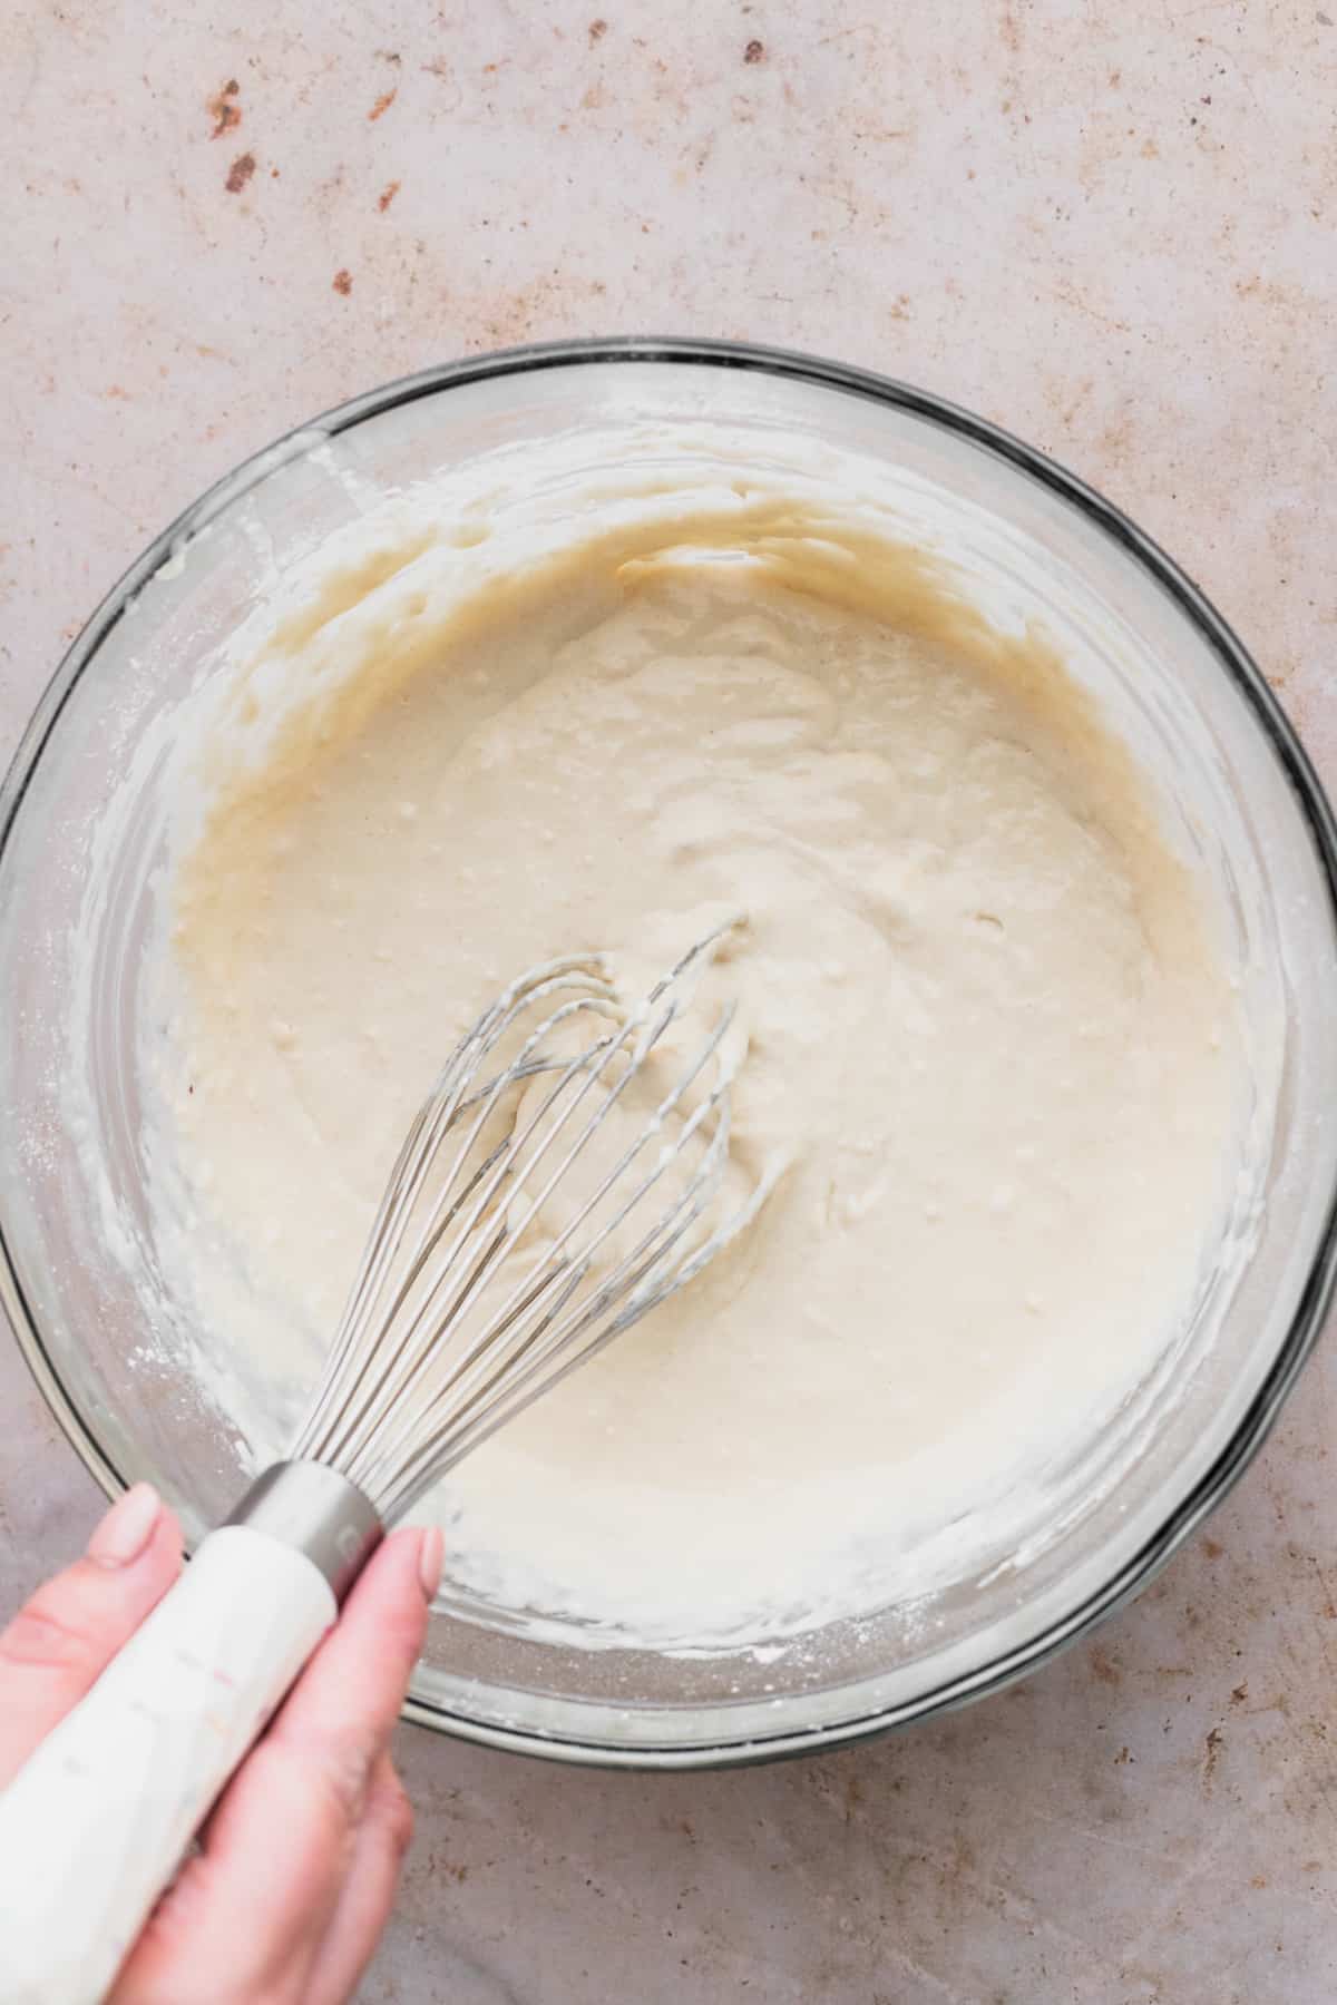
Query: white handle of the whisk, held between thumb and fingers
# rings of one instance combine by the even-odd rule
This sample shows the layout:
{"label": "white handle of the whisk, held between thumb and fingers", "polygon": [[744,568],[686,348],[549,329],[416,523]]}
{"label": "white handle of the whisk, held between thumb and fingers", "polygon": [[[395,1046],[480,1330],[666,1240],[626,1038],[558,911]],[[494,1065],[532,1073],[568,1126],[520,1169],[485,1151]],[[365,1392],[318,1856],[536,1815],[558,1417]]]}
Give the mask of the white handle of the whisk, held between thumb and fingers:
{"label": "white handle of the whisk, held between thumb and fingers", "polygon": [[96,2005],[222,1784],[337,1614],[315,1560],[210,1532],[0,1794],[0,2001]]}

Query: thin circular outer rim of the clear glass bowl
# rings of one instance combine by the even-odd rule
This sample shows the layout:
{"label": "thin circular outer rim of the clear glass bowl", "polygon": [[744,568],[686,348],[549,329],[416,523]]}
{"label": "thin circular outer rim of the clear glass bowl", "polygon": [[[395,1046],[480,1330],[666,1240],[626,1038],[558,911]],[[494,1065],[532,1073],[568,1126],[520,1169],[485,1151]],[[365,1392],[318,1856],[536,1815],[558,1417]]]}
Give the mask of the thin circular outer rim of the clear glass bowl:
{"label": "thin circular outer rim of the clear glass bowl", "polygon": [[[1199,638],[1209,646],[1223,674],[1235,684],[1249,704],[1257,726],[1263,730],[1291,786],[1301,818],[1309,830],[1315,854],[1323,868],[1329,892],[1329,924],[1337,936],[1337,820],[1327,800],[1323,784],[1301,746],[1297,732],[1273,696],[1257,662],[1221,618],[1215,606],[1193,583],[1193,579],[1161,549],[1161,545],[1139,529],[1119,507],[1070,473],[1046,453],[1026,445],[984,417],[918,389],[912,383],[878,375],[870,369],[828,361],[796,349],[762,347],[742,341],[619,335],[591,337],[579,341],[545,341],[525,347],[499,349],[485,355],[465,357],[453,363],[439,363],[399,377],[379,389],[365,391],[323,415],[285,433],[273,445],[251,453],[239,467],[222,475],[160,535],[156,535],[140,557],[102,597],[90,614],[82,632],[66,650],[60,666],[42,692],[32,718],[18,740],[8,772],[0,782],[0,856],[10,840],[16,816],[38,768],[42,752],[60,722],[60,714],[84,668],[98,648],[124,618],[142,585],[168,561],[190,537],[210,523],[222,509],[231,507],[253,485],[289,457],[305,453],[313,435],[325,439],[415,403],[421,397],[439,395],[469,383],[499,377],[519,377],[543,369],[569,369],[589,363],[627,365],[694,365],[702,369],[746,369],[762,375],[784,377],[818,389],[838,391],[850,397],[868,399],[928,419],[962,439],[1002,457],[1050,493],[1058,495],[1106,537],[1119,543],[1127,555],[1141,565],[1177,604],[1179,612],[1197,628]],[[1235,1434],[1217,1460],[1199,1476],[1189,1494],[1167,1516],[1145,1544],[1133,1554],[1110,1580],[1086,1596],[1062,1620],[1050,1624],[1042,1634],[1014,1648],[1000,1652],[992,1662],[972,1672],[944,1680],[934,1690],[878,1712],[854,1714],[826,1726],[810,1730],[784,1730],[774,1736],[746,1736],[738,1740],[714,1740],[710,1744],[655,1744],[631,1742],[613,1744],[603,1740],[581,1740],[575,1734],[547,1734],[529,1728],[509,1728],[487,1720],[477,1720],[427,1700],[409,1698],[403,1716],[441,1732],[451,1732],[463,1740],[485,1746],[507,1748],[511,1752],[547,1756],[551,1760],[583,1762],[603,1768],[708,1768],[738,1766],[746,1762],[778,1760],[784,1756],[818,1752],[850,1742],[868,1740],[890,1732],[912,1720],[932,1718],[954,1710],[974,1698],[1028,1676],[1048,1662],[1058,1650],[1088,1634],[1108,1614],[1119,1610],[1139,1594],[1185,1544],[1199,1524],[1221,1504],[1239,1482],[1267,1434],[1271,1432],[1281,1406],[1291,1393],[1301,1367],[1305,1365],[1325,1319],[1337,1283],[1337,1189],[1329,1195],[1327,1213],[1319,1245],[1305,1277],[1291,1327],[1281,1341],[1277,1355],[1257,1389],[1249,1410],[1243,1414]],[[18,1349],[42,1393],[52,1416],[70,1440],[72,1448],[94,1476],[102,1490],[114,1498],[126,1488],[126,1478],[98,1444],[90,1424],[56,1371],[36,1317],[24,1299],[0,1215],[0,1305],[18,1341]]]}

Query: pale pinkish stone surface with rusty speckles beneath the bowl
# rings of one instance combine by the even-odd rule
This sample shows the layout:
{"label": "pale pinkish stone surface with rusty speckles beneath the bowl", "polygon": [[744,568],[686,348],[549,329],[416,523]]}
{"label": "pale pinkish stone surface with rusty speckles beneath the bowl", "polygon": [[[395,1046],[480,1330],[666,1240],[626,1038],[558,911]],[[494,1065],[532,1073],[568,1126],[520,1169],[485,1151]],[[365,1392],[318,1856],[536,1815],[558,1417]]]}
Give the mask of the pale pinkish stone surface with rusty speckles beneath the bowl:
{"label": "pale pinkish stone surface with rusty speckles beneath the bowl", "polygon": [[[1199,577],[1337,782],[1335,16],[12,0],[0,754],[122,565],[277,431],[463,351],[655,331],[870,363],[1046,447]],[[1319,1353],[1094,1642],[924,1730],[678,1778],[403,1730],[419,1837],[365,2005],[1327,2005],[1335,1387]],[[96,1496],[6,1345],[0,1410],[4,1606]]]}

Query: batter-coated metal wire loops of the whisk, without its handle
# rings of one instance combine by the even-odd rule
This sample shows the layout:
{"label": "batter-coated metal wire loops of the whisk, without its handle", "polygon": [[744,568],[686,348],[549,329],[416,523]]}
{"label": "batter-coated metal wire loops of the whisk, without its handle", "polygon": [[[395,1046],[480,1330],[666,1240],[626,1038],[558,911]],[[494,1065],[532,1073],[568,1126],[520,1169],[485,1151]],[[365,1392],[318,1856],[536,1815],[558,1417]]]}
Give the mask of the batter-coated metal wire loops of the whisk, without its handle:
{"label": "batter-coated metal wire loops of the whisk, without its handle", "polygon": [[702,1271],[766,1201],[738,1189],[728,1005],[684,1039],[734,926],[627,1002],[601,954],[529,968],[419,1109],[291,1450],[385,1520]]}

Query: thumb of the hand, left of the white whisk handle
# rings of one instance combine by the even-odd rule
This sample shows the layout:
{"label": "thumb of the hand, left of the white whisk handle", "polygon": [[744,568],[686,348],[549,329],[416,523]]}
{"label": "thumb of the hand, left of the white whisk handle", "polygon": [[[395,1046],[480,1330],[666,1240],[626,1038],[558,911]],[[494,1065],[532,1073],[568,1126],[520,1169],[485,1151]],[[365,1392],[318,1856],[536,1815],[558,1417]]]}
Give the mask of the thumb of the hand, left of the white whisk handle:
{"label": "thumb of the hand, left of the white whisk handle", "polygon": [[130,1640],[180,1572],[180,1528],[136,1484],[74,1566],[44,1582],[0,1634],[0,1788]]}

